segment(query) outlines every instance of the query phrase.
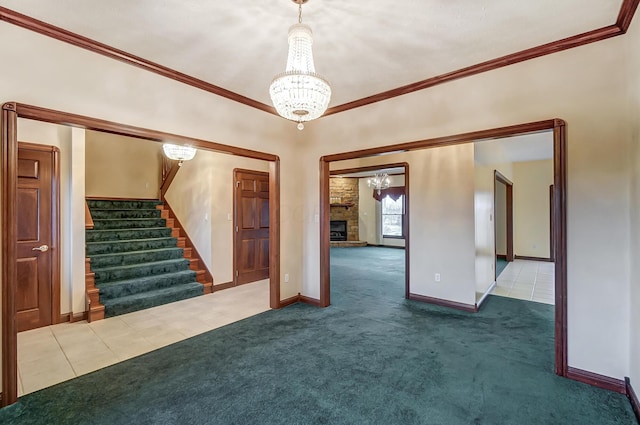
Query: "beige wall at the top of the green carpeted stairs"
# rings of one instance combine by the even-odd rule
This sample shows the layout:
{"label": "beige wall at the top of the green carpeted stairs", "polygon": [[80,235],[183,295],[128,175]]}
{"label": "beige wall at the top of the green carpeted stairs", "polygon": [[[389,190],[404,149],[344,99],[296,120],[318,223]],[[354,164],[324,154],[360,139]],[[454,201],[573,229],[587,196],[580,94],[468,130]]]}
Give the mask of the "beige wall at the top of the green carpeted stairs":
{"label": "beige wall at the top of the green carpeted stairs", "polygon": [[162,184],[162,144],[88,130],[87,196],[158,199]]}

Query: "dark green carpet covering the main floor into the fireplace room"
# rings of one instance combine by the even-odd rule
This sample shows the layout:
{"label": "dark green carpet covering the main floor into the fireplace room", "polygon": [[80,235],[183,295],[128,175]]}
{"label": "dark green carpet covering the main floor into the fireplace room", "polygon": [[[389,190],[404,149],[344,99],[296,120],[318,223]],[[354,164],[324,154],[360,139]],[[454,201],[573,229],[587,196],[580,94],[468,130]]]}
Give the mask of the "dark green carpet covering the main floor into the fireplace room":
{"label": "dark green carpet covering the main floor into the fireplace room", "polygon": [[269,311],[23,397],[10,424],[635,424],[553,374],[551,306],[405,301],[402,250],[332,250],[334,305]]}

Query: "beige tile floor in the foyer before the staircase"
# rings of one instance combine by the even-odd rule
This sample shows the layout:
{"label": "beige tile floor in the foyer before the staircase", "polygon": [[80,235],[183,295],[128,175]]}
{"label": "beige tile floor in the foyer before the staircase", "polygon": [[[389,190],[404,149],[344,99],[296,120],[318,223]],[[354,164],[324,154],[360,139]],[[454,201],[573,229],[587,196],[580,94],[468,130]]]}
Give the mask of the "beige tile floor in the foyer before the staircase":
{"label": "beige tile floor in the foyer before the staircase", "polygon": [[269,310],[269,281],[18,334],[18,396]]}

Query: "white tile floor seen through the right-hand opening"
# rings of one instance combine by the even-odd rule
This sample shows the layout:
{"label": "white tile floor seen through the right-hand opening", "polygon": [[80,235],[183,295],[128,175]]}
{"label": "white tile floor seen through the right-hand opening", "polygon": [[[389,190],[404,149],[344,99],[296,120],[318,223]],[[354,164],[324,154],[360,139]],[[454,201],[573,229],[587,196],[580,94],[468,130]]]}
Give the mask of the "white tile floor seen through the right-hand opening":
{"label": "white tile floor seen through the right-hand opening", "polygon": [[500,273],[493,295],[554,304],[555,265],[543,261],[514,260]]}

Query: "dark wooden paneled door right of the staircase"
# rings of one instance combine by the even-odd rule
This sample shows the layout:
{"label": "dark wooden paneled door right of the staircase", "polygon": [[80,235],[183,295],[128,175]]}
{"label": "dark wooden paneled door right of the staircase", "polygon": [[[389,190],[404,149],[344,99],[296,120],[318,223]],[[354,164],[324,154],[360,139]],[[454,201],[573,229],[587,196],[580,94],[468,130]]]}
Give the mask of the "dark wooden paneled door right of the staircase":
{"label": "dark wooden paneled door right of the staircase", "polygon": [[236,285],[269,277],[269,174],[234,170]]}

